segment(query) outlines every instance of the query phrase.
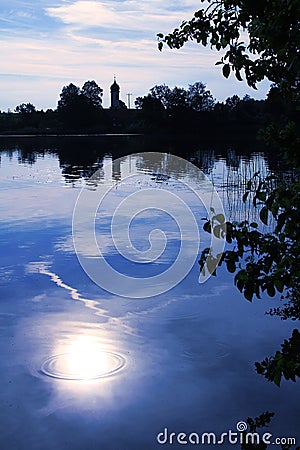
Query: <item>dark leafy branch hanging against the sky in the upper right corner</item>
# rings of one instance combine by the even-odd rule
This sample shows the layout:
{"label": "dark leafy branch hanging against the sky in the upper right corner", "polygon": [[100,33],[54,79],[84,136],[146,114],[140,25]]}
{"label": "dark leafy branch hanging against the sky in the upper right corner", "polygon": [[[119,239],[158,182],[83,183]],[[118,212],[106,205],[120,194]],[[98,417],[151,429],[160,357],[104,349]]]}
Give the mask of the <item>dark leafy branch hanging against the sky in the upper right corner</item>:
{"label": "dark leafy branch hanging against the sky in the upper right corner", "polygon": [[[203,3],[205,0],[201,0]],[[265,77],[283,90],[293,89],[299,71],[299,15],[297,0],[254,2],[247,0],[207,0],[189,21],[164,35],[158,33],[158,48],[166,44],[181,48],[187,41],[223,51],[216,64],[222,65],[225,78],[233,72],[256,88]],[[244,41],[247,41],[247,44]]]}

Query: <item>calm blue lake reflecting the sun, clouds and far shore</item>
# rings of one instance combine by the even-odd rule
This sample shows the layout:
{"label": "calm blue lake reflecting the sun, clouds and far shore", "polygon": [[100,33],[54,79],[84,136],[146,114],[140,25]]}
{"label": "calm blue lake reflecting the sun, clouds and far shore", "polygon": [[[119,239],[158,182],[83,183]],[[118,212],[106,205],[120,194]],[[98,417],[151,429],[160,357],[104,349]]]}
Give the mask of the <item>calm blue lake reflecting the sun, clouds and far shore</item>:
{"label": "calm blue lake reflecting the sun, clouds and far shore", "polygon": [[1,137],[0,157],[2,450],[197,447],[265,411],[260,433],[299,445],[299,384],[254,367],[294,328],[265,314],[279,297],[246,301],[224,268],[199,283],[197,262],[210,187],[257,220],[245,182],[274,155],[73,136]]}

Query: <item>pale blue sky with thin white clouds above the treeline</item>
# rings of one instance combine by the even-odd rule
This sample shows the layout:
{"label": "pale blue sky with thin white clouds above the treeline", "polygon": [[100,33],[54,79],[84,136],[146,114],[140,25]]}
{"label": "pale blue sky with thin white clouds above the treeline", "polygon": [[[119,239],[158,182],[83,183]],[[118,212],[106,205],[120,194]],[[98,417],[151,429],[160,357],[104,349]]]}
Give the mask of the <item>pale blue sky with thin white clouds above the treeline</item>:
{"label": "pale blue sky with thin white clouds above the treeline", "polygon": [[190,19],[200,0],[0,0],[0,110],[20,103],[56,108],[62,87],[95,80],[110,105],[116,75],[120,98],[131,107],[155,85],[188,87],[202,81],[218,101],[238,94],[265,98],[221,74],[217,52],[189,43],[158,51],[156,34]]}

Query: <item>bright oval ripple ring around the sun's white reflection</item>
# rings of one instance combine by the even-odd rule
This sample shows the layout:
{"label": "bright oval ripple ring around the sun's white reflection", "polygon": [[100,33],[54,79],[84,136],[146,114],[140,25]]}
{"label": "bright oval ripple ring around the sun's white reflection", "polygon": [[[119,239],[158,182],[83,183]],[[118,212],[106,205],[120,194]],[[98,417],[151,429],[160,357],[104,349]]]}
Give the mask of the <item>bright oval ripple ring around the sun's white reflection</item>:
{"label": "bright oval ripple ring around the sun's white reflection", "polygon": [[87,354],[61,353],[47,358],[41,372],[61,380],[95,380],[114,375],[126,364],[125,358],[113,352],[100,351],[90,358]]}

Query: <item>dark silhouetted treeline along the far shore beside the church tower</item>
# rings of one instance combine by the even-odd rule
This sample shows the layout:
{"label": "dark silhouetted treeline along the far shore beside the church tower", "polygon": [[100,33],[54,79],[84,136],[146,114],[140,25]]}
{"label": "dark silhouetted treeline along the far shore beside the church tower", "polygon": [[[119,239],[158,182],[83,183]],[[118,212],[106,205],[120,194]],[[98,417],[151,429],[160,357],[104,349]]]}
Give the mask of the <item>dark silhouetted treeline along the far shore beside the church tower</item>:
{"label": "dark silhouetted treeline along the far shore beside the church tower", "polygon": [[[0,113],[0,134],[218,134],[227,137],[253,137],[269,124],[297,123],[299,111],[271,87],[265,100],[249,95],[233,95],[216,102],[202,82],[187,89],[158,85],[135,101],[135,109],[102,106],[103,90],[95,81],[82,88],[64,86],[56,109],[37,110],[32,103],[16,106],[14,112]],[[298,121],[299,122],[299,121]]]}

